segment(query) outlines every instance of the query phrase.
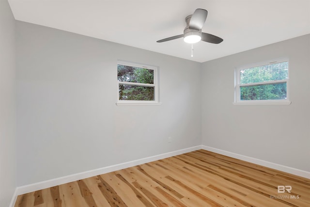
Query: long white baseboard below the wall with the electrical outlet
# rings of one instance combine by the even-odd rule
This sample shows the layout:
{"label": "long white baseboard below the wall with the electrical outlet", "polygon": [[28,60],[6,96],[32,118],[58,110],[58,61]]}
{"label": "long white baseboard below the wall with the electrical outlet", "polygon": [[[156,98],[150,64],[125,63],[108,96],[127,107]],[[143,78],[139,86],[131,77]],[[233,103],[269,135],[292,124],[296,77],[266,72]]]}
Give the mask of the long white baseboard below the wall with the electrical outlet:
{"label": "long white baseboard below the wall with the electrical outlet", "polygon": [[151,157],[147,157],[147,158],[137,159],[137,160],[124,162],[124,163],[120,163],[120,164],[116,164],[116,165],[111,165],[111,166],[107,166],[107,167],[103,167],[103,168],[99,168],[99,169],[94,169],[94,170],[90,170],[90,171],[86,171],[86,172],[82,172],[82,173],[78,173],[78,174],[74,174],[74,175],[67,175],[67,176],[58,177],[55,179],[50,179],[50,180],[46,180],[46,181],[42,181],[42,182],[38,182],[38,183],[33,183],[30,185],[20,186],[20,187],[16,188],[15,197],[17,195],[21,195],[24,193],[28,193],[28,192],[32,192],[32,191],[39,191],[39,190],[42,190],[45,188],[50,188],[50,187],[61,185],[64,183],[73,182],[73,181],[84,179],[87,177],[92,177],[92,176],[96,176],[96,175],[110,173],[110,172],[121,170],[124,168],[133,167],[133,166],[144,164],[147,162],[152,162],[152,161],[155,161],[158,159],[165,159],[165,158],[169,158],[172,156],[181,155],[181,154],[184,154],[187,152],[199,150],[201,148],[202,148],[201,145],[193,146],[193,147],[180,149],[180,150],[176,150],[176,151],[172,151],[172,152],[168,152],[168,153],[164,153],[164,154],[160,154],[160,155],[155,155],[155,156],[151,156]]}

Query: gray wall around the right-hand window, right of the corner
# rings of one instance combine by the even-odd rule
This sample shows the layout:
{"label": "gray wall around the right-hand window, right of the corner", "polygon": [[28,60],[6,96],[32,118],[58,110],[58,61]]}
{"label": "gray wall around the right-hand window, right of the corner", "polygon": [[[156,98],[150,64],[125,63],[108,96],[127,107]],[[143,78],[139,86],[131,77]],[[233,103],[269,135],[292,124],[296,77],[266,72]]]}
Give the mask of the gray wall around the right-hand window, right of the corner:
{"label": "gray wall around the right-hand window, right of the corner", "polygon": [[[291,105],[233,105],[234,68],[289,58]],[[202,64],[202,144],[310,171],[310,34]]]}

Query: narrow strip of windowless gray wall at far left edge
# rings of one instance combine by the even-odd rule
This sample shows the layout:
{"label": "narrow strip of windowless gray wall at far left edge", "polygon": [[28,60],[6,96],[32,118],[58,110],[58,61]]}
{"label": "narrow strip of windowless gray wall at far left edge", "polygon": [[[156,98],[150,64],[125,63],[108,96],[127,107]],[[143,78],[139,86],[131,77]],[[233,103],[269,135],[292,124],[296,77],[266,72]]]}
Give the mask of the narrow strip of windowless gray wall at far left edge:
{"label": "narrow strip of windowless gray wall at far left edge", "polygon": [[10,204],[16,188],[15,20],[0,0],[0,207]]}

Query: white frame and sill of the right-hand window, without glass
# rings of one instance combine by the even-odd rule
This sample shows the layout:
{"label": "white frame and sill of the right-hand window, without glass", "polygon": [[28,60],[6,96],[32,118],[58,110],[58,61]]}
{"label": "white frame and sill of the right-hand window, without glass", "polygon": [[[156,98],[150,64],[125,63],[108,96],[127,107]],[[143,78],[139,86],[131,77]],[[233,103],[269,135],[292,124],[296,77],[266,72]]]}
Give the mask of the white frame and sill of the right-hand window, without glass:
{"label": "white frame and sill of the right-hand window, without glass", "polygon": [[[289,105],[291,101],[289,99],[289,80],[290,80],[290,62],[288,68],[288,78],[286,80],[273,80],[264,81],[257,83],[240,84],[240,70],[248,69],[251,67],[258,67],[268,64],[289,62],[288,58],[278,58],[269,61],[263,61],[260,63],[247,64],[243,66],[236,67],[234,70],[234,102],[235,105]],[[240,87],[241,86],[254,86],[254,85],[268,85],[271,83],[286,83],[286,99],[276,99],[276,100],[241,100],[240,98]]]}

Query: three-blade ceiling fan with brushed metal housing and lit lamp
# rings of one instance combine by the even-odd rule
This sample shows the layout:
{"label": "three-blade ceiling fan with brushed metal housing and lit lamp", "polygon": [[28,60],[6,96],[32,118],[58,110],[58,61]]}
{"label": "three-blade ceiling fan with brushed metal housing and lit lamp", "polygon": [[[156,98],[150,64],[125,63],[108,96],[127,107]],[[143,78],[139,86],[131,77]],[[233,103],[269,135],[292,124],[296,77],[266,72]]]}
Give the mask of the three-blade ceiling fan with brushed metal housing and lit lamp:
{"label": "three-blade ceiling fan with brushed metal housing and lit lamp", "polygon": [[208,11],[205,9],[196,9],[193,15],[186,16],[186,28],[183,34],[168,37],[156,42],[166,42],[174,39],[184,37],[186,43],[197,43],[200,40],[204,42],[218,44],[223,41],[222,38],[217,37],[213,34],[202,32],[202,26],[207,19]]}

